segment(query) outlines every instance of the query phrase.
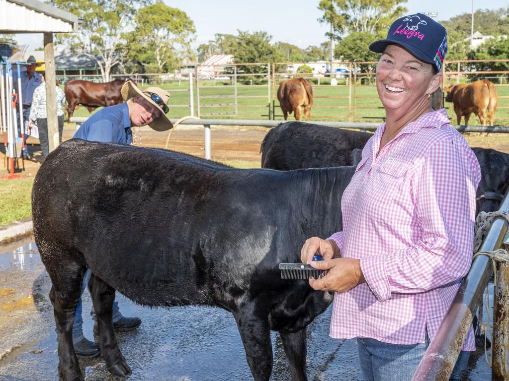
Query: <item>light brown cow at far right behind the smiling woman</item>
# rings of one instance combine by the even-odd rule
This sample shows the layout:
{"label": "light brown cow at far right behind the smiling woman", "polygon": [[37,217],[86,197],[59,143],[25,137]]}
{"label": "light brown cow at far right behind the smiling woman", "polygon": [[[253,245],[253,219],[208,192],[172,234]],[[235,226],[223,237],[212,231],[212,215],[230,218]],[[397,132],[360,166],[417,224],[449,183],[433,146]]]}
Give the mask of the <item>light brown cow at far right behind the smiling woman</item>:
{"label": "light brown cow at far right behind the smiling woman", "polygon": [[[450,85],[444,91],[447,91],[445,101],[454,104],[458,124],[461,124],[461,117],[465,115],[465,124],[468,125],[473,112],[479,117],[480,124],[485,125],[488,118],[490,125],[493,125],[498,103],[497,89],[493,83],[482,79],[468,84]],[[488,109],[488,115],[485,109]]]}

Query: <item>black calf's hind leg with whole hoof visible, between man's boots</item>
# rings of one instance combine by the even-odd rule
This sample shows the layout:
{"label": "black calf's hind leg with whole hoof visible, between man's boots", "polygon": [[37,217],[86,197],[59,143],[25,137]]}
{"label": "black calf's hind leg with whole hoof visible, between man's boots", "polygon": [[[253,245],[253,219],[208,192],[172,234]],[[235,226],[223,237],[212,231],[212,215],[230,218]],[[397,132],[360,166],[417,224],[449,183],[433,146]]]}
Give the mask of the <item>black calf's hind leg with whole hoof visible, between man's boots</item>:
{"label": "black calf's hind leg with whole hoof visible, between man's boots", "polygon": [[120,352],[111,323],[115,290],[101,278],[95,276],[94,273],[90,276],[89,289],[97,316],[101,355],[106,361],[106,367],[110,373],[127,376],[131,374],[131,368]]}

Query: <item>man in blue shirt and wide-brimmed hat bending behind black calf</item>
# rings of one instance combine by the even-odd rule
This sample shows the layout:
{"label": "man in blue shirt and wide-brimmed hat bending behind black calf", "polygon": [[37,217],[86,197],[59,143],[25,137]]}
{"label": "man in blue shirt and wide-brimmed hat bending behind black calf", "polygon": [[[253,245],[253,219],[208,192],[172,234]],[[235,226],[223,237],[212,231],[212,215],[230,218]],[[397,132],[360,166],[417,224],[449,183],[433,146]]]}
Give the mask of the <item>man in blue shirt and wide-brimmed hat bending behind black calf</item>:
{"label": "man in blue shirt and wide-brimmed hat bending behind black calf", "polygon": [[[74,134],[73,138],[91,140],[105,143],[131,144],[132,126],[149,125],[156,131],[166,131],[173,128],[172,123],[166,117],[168,112],[169,93],[159,87],[149,87],[140,90],[134,83],[127,81],[121,89],[122,97],[126,103],[105,107],[94,113]],[[90,269],[83,278],[81,293],[88,284]],[[99,344],[88,340],[83,336],[83,320],[81,317],[81,297],[79,298],[72,327],[74,352],[77,357],[91,358],[99,355]],[[92,309],[92,316],[95,314]],[[139,317],[123,316],[114,302],[113,328],[118,331],[130,331],[137,328],[142,321]],[[97,324],[94,324],[94,332],[98,333]]]}

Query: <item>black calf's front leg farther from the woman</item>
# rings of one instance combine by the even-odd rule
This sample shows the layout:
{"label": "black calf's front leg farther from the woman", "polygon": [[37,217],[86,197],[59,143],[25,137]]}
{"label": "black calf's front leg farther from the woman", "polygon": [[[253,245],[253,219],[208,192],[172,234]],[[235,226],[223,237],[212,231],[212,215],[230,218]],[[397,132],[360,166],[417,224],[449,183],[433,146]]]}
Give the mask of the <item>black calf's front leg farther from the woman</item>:
{"label": "black calf's front leg farther from the woman", "polygon": [[268,319],[262,319],[254,308],[239,307],[234,313],[246,359],[254,381],[267,381],[272,372],[272,344]]}

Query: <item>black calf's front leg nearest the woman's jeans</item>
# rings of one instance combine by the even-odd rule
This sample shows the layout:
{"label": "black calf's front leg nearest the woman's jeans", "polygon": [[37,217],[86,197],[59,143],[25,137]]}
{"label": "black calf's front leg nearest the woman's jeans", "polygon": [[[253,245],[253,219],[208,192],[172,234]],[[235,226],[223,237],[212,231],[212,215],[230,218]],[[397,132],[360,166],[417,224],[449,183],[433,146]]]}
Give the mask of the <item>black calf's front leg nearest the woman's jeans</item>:
{"label": "black calf's front leg nearest the woman's jeans", "polygon": [[290,363],[293,381],[307,381],[306,376],[306,329],[295,333],[279,332]]}

